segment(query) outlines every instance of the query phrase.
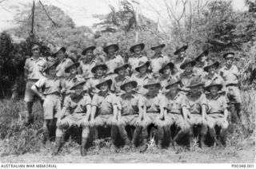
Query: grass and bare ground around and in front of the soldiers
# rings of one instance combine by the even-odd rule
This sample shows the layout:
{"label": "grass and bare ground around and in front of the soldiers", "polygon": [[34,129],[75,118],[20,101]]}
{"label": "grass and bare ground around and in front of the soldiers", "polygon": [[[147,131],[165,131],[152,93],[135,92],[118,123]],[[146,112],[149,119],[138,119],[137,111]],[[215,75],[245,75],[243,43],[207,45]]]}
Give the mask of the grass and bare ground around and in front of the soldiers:
{"label": "grass and bare ground around and in front of the soldiers", "polygon": [[[34,104],[34,125],[26,128],[20,114],[24,111],[22,100],[0,101],[0,153],[2,162],[9,163],[253,163],[255,147],[255,91],[242,92],[242,124],[230,124],[227,146],[198,147],[194,139],[190,151],[158,150],[154,143],[144,154],[122,150],[110,153],[109,141],[95,140],[88,155],[81,159],[79,145],[68,140],[59,156],[52,157],[54,143],[42,144],[42,110]],[[178,153],[178,154],[177,154]],[[216,158],[216,155],[220,158]],[[37,158],[34,158],[37,157]],[[102,159],[98,161],[98,158]],[[214,159],[214,160],[213,160]],[[216,160],[216,161],[215,161]]]}

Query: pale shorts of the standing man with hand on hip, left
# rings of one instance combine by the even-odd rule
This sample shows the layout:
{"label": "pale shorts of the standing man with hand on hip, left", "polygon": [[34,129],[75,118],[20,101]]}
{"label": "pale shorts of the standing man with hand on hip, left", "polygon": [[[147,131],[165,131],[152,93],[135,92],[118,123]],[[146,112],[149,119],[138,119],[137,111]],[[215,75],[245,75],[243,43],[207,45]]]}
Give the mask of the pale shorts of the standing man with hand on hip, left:
{"label": "pale shorts of the standing man with hand on hip, left", "polygon": [[43,116],[45,120],[58,118],[59,113],[62,111],[61,97],[57,95],[46,95],[46,99],[42,104]]}

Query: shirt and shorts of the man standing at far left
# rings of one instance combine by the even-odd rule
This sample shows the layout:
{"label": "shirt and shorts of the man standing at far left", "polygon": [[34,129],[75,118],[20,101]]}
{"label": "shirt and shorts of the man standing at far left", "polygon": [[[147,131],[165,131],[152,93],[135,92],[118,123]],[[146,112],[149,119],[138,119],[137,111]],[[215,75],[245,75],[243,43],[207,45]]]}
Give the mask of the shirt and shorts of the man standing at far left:
{"label": "shirt and shorts of the man standing at far left", "polygon": [[31,87],[34,85],[36,81],[38,81],[38,79],[44,77],[42,71],[46,69],[46,66],[47,61],[42,57],[39,57],[38,60],[34,60],[33,57],[26,59],[24,65],[24,69],[26,69],[28,72],[26,91],[24,96],[24,100],[26,102],[34,102],[34,99],[37,97],[36,94],[32,91]]}

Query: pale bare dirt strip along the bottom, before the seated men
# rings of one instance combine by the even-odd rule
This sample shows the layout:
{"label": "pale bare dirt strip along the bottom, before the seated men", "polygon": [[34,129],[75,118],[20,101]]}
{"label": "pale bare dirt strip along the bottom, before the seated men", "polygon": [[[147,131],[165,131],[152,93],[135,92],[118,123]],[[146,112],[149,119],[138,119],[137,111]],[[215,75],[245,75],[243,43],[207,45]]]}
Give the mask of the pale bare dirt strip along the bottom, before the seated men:
{"label": "pale bare dirt strip along the bottom, before the seated men", "polygon": [[0,158],[1,163],[255,163],[255,148],[206,147],[193,151],[171,151],[149,147],[145,153],[124,151],[110,153],[109,149],[88,151],[80,156],[79,147],[62,151],[60,155],[50,155],[50,150],[24,155],[8,155]]}

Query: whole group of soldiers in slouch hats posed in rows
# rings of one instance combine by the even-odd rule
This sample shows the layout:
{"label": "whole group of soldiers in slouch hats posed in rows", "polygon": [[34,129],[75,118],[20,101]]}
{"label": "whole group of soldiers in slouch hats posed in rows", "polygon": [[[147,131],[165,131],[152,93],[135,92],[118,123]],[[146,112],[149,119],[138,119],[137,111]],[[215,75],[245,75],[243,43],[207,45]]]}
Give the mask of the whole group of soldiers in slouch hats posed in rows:
{"label": "whole group of soldiers in slouch hats posed in rows", "polygon": [[104,129],[110,132],[113,151],[118,149],[118,134],[124,148],[139,147],[140,152],[146,151],[150,138],[160,149],[176,149],[182,140],[188,140],[185,146],[189,148],[198,136],[200,147],[205,147],[207,133],[225,146],[230,105],[238,116],[241,107],[234,53],[222,56],[226,62],[219,69],[220,63],[208,58],[208,50],[192,60],[186,55],[188,45],[183,45],[171,59],[162,53],[165,46],[152,46],[154,56],[147,57],[145,44],[134,44],[124,61],[117,54],[118,44],[107,43],[106,54],[94,56],[96,45],[92,43],[78,61],[72,61],[64,47],[41,57],[40,46],[33,45],[33,56],[24,66],[25,124],[33,123],[32,108],[39,98],[43,141],[49,140],[50,132],[56,136],[53,155],[60,151],[72,126],[82,128],[82,156],[90,137],[101,138]]}

